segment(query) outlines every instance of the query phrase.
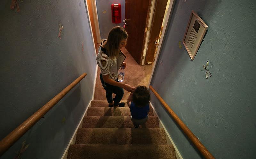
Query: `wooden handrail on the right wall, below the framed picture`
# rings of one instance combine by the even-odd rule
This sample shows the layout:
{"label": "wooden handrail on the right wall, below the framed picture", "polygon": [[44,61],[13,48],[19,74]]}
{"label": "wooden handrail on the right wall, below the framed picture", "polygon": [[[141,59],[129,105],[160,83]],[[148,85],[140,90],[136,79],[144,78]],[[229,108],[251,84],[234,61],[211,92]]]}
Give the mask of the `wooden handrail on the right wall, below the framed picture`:
{"label": "wooden handrail on the right wall, below the framed picture", "polygon": [[180,126],[183,132],[188,136],[188,138],[193,142],[196,148],[200,151],[200,153],[206,159],[215,159],[213,155],[204,147],[204,145],[197,139],[197,137],[189,130],[189,128],[180,120],[180,118],[172,111],[172,109],[168,106],[166,102],[164,102],[163,98],[156,92],[156,90],[149,86],[151,91],[156,95],[157,99],[164,105],[164,108],[169,112],[169,114],[173,117],[175,122]]}

